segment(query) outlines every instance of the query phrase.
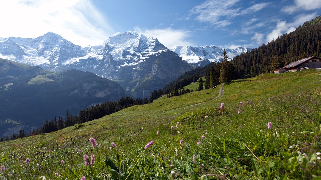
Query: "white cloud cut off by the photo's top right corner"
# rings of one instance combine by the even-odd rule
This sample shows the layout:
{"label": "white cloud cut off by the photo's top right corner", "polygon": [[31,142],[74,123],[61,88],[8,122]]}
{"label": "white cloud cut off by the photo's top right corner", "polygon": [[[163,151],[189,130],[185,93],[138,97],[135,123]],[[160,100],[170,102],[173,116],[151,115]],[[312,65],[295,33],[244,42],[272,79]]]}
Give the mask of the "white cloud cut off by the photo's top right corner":
{"label": "white cloud cut off by the photo's top right corner", "polygon": [[300,9],[315,10],[321,8],[320,0],[295,0],[294,5],[284,7],[283,12],[292,14]]}

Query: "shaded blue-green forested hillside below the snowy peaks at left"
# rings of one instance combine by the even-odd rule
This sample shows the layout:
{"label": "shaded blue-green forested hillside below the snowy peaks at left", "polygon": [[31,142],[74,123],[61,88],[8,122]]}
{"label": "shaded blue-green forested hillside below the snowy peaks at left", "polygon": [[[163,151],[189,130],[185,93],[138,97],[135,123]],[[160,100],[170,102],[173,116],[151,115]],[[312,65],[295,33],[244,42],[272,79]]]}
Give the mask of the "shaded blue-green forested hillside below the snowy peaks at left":
{"label": "shaded blue-green forested hillside below the snowy peaks at left", "polygon": [[67,110],[70,114],[78,114],[90,105],[127,96],[116,82],[91,72],[64,70],[37,77],[36,74],[4,77],[8,82],[0,81],[1,135],[10,136],[20,129],[29,133],[54,116],[64,116]]}

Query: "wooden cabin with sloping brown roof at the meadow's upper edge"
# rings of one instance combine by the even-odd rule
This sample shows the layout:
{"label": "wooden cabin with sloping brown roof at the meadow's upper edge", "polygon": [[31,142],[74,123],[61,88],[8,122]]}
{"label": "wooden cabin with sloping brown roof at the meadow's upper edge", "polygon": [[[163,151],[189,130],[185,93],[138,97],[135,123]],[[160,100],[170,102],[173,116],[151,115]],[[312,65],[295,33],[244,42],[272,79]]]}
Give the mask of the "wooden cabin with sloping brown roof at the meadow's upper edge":
{"label": "wooden cabin with sloping brown roof at the meadow's upper edge", "polygon": [[273,70],[274,73],[284,73],[284,72],[297,72],[301,70],[307,70],[307,69],[321,69],[321,58],[317,56],[301,59],[299,61],[294,61],[291,64],[277,69]]}

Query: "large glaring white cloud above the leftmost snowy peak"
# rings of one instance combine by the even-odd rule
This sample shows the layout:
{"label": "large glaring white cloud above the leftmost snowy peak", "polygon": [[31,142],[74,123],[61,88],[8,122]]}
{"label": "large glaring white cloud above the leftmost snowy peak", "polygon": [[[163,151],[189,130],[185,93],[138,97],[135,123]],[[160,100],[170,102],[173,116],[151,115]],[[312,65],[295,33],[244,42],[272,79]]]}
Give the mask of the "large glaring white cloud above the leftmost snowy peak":
{"label": "large glaring white cloud above the leftmost snowy peak", "polygon": [[10,0],[0,1],[0,7],[2,37],[35,38],[51,31],[87,46],[114,32],[90,0]]}

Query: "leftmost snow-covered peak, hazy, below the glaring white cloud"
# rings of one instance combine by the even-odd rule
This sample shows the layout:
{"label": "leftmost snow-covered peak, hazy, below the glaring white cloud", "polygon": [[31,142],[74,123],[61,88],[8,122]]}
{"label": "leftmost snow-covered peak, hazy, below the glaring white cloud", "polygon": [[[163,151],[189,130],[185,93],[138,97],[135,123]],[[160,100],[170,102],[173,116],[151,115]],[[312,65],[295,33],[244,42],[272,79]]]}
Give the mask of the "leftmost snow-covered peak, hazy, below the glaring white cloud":
{"label": "leftmost snow-covered peak, hazy, below the glaring white cloud", "polygon": [[38,65],[55,70],[62,62],[72,57],[82,57],[85,52],[78,45],[67,41],[60,35],[48,32],[43,36],[31,39],[9,37],[0,39],[0,56],[9,56],[10,60]]}

